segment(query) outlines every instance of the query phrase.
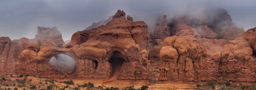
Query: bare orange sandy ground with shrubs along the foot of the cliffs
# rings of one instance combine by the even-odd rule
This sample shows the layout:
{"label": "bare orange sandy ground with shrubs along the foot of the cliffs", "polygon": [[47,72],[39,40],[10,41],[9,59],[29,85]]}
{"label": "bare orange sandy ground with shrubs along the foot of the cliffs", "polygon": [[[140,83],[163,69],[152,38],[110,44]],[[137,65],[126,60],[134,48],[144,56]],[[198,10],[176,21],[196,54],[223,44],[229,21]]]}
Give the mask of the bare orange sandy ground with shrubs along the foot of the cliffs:
{"label": "bare orange sandy ground with shrubs along the foot of the cliffs", "polygon": [[[26,81],[25,87],[18,87],[20,83],[16,81],[16,79],[24,79],[24,77],[6,77],[6,81],[4,83],[8,83],[9,85],[3,85],[1,84],[1,88],[11,88],[14,89],[15,87],[18,89],[29,89],[32,85],[35,85],[37,89],[47,88],[48,85],[51,85],[48,81],[46,83],[45,80],[50,80],[50,78],[38,78],[33,76],[28,76]],[[153,89],[195,89],[196,83],[193,82],[170,82],[170,81],[157,81],[157,82],[150,82],[148,80],[116,80],[115,75],[109,80],[104,79],[80,79],[80,78],[66,78],[66,79],[54,79],[54,85],[56,85],[58,88],[62,88],[63,86],[66,86],[67,84],[61,83],[61,81],[70,81],[72,80],[74,82],[74,85],[70,85],[70,88],[67,89],[73,89],[74,87],[77,87],[78,85],[82,85],[84,83],[91,82],[94,84],[95,87],[102,86],[103,88],[106,87],[118,87],[119,89],[123,89],[128,86],[134,86],[133,88],[137,89],[140,88],[143,85],[147,85],[149,90]],[[13,84],[16,84],[13,86]],[[57,88],[54,88],[57,89]],[[80,87],[80,89],[86,89]]]}

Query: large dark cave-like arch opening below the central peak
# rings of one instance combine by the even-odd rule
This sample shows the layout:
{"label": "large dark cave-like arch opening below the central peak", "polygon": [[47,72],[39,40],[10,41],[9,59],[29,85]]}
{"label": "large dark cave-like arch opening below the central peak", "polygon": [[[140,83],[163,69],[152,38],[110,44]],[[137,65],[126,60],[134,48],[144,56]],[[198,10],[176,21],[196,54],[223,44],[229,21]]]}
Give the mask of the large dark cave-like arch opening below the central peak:
{"label": "large dark cave-like arch opening below the central peak", "polygon": [[123,58],[123,55],[118,52],[115,51],[112,55],[112,57],[109,60],[109,63],[111,64],[111,77],[115,77],[116,75],[118,75],[118,73],[120,73],[120,69],[123,65],[123,63],[125,63],[125,59]]}

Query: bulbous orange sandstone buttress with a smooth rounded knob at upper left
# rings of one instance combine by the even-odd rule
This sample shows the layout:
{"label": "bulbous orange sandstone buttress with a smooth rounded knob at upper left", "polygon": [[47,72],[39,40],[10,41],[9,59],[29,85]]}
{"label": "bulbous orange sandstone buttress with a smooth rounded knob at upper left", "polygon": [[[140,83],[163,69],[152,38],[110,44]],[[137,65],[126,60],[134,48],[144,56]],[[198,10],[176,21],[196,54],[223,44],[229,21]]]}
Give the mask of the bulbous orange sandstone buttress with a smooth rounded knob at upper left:
{"label": "bulbous orange sandstone buttress with a smooth rounded knob at upper left", "polygon": [[172,36],[162,43],[160,80],[197,81],[199,63],[206,59],[202,42],[193,37]]}

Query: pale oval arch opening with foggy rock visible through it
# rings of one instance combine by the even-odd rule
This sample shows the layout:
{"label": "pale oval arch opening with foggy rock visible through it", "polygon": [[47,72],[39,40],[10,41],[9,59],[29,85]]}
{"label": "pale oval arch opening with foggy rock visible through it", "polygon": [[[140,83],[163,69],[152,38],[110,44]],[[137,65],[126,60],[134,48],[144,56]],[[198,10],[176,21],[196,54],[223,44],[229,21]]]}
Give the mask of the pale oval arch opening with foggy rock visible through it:
{"label": "pale oval arch opening with foggy rock visible through it", "polygon": [[74,73],[76,71],[76,61],[65,54],[58,54],[53,56],[50,61],[50,65],[55,66],[55,69],[61,72]]}

